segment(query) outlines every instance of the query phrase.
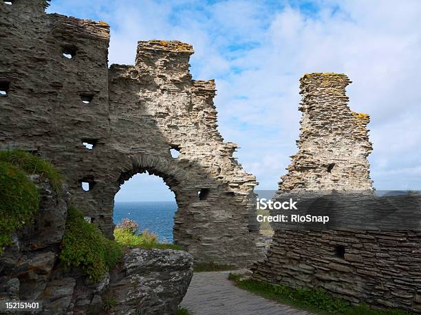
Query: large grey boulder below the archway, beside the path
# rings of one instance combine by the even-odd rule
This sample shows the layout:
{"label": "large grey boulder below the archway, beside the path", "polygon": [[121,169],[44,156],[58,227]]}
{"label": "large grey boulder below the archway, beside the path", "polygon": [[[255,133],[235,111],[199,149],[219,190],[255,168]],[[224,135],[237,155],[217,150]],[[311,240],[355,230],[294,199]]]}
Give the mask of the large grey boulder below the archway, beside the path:
{"label": "large grey boulder below the archway, beside the path", "polygon": [[182,250],[131,248],[102,299],[117,302],[110,314],[175,314],[192,276],[193,256]]}

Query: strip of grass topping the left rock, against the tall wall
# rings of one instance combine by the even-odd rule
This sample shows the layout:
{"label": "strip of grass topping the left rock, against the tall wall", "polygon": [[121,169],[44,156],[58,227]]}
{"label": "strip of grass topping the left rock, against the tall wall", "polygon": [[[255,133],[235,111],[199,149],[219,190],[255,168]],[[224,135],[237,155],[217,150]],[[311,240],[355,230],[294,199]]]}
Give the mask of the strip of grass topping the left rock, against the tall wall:
{"label": "strip of grass topping the left rock, against the tall wall", "polygon": [[0,151],[0,161],[7,162],[19,167],[27,174],[37,174],[41,180],[47,178],[56,194],[61,192],[63,187],[63,176],[54,166],[39,156],[20,150]]}

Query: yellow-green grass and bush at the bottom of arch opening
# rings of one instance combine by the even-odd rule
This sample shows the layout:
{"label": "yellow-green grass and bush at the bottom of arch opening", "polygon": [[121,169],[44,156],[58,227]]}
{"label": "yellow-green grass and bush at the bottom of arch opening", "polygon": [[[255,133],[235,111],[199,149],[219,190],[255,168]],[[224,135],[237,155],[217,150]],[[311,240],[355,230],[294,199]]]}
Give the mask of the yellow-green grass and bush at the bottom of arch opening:
{"label": "yellow-green grass and bush at the bottom of arch opening", "polygon": [[144,249],[175,249],[185,250],[177,244],[160,243],[158,236],[149,231],[139,231],[138,225],[133,220],[123,219],[114,229],[114,238],[121,246],[133,246]]}

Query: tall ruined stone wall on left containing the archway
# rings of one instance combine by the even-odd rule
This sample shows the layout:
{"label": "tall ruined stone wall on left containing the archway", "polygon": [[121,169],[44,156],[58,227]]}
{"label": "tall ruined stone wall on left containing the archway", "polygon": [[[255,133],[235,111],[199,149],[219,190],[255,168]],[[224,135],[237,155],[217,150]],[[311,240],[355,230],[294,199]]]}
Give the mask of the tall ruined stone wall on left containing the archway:
{"label": "tall ruined stone wall on left containing the archway", "polygon": [[217,131],[215,82],[191,78],[191,45],[141,41],[134,66],[108,68],[109,25],[45,14],[46,5],[0,3],[1,148],[50,159],[72,202],[109,237],[120,185],[149,172],[174,191],[174,240],[197,263],[256,259],[248,213],[257,182]]}

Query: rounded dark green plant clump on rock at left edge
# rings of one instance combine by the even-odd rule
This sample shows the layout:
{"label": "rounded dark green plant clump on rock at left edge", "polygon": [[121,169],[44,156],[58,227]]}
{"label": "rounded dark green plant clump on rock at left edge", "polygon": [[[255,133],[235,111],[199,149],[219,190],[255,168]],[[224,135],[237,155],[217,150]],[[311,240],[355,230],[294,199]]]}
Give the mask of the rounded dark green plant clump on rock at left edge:
{"label": "rounded dark green plant clump on rock at left edge", "polygon": [[[1,152],[0,152],[1,153]],[[28,174],[11,163],[0,161],[0,255],[10,236],[31,223],[39,209],[39,191]]]}

